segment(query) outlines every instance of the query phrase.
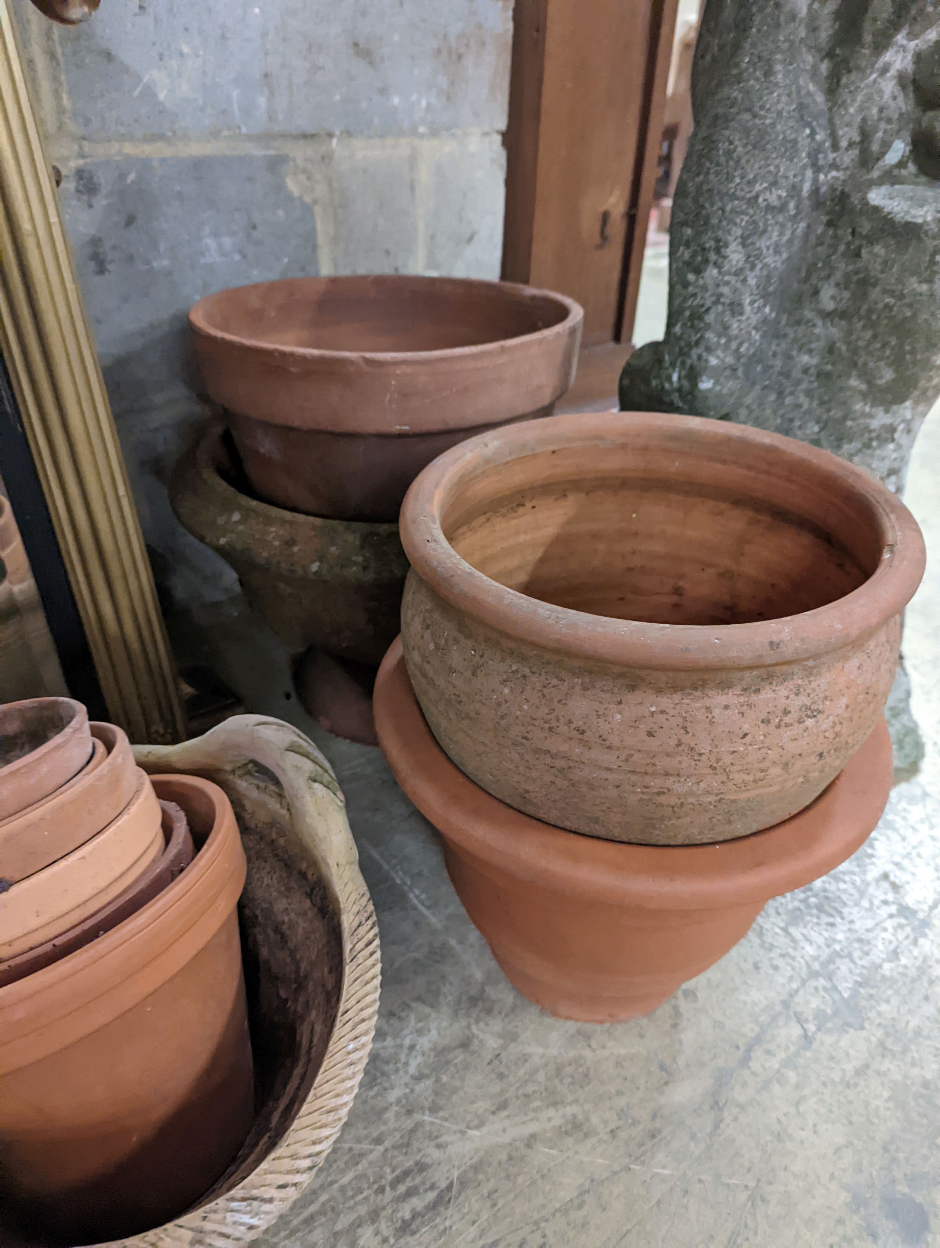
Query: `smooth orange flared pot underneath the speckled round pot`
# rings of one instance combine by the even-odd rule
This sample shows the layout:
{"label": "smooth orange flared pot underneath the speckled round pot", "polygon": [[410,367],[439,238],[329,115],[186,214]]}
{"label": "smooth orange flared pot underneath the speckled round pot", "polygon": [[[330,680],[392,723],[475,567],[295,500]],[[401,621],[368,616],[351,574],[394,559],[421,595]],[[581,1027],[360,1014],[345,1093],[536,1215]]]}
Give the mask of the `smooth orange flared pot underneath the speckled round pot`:
{"label": "smooth orange flared pot underneath the speckled round pot", "polygon": [[717,962],[770,897],[855,852],[893,782],[881,720],[825,792],[776,827],[718,845],[615,844],[529,819],[468,780],[434,741],[398,643],[379,668],[375,715],[506,977],[549,1013],[585,1022],[649,1013]]}

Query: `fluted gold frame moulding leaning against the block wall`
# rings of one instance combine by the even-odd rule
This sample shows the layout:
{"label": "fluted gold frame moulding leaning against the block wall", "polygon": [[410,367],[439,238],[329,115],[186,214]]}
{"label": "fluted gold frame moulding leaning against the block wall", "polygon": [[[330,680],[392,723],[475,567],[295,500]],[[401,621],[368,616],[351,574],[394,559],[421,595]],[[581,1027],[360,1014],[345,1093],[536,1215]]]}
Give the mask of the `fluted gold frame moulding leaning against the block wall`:
{"label": "fluted gold frame moulding leaning against the block wall", "polygon": [[9,0],[0,0],[0,352],[109,714],[134,741],[181,740],[166,629]]}

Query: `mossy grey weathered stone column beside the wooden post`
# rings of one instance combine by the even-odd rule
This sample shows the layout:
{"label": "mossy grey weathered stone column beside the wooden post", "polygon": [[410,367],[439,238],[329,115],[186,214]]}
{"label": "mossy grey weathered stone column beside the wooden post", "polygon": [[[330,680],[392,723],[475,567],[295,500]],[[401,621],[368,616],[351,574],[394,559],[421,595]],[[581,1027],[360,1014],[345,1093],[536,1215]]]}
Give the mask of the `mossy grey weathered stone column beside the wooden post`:
{"label": "mossy grey weathered stone column beside the wooden post", "polygon": [[940,394],[940,5],[707,0],[665,341],[625,409],[826,447],[899,489]]}

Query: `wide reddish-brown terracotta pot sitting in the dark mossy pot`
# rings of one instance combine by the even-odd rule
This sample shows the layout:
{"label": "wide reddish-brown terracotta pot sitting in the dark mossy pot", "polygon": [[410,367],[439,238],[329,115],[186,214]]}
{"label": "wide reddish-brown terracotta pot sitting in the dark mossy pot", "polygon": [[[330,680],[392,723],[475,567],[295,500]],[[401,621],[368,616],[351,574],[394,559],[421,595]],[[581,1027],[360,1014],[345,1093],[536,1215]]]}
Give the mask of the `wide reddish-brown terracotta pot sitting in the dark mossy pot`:
{"label": "wide reddish-brown terracotta pot sitting in the dark mossy pot", "polygon": [[572,300],[528,286],[386,275],[221,291],[190,324],[258,497],[393,522],[442,451],[552,411],[574,377],[583,318]]}

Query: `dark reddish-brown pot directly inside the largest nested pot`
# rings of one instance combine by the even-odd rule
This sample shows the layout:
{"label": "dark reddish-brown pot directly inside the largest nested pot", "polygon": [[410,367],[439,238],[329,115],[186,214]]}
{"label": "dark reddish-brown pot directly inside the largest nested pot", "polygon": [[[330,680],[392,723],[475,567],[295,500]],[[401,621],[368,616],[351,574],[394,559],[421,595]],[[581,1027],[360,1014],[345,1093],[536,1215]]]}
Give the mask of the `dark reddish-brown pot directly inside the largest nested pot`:
{"label": "dark reddish-brown pot directly inside the largest nested pot", "polygon": [[[154,785],[157,796],[161,784],[161,779],[157,778],[157,782]],[[193,854],[192,836],[182,807],[172,801],[161,801],[160,809],[162,811],[164,850],[159,857],[154,859],[142,875],[119,894],[114,901],[110,901],[101,910],[96,910],[84,922],[69,927],[54,936],[52,940],[27,950],[17,957],[0,961],[0,987],[21,980],[25,975],[32,975],[34,971],[40,971],[44,966],[51,966],[60,957],[66,957],[76,948],[104,936],[105,932],[122,924],[125,919],[130,919],[159,892],[162,892],[190,865]]]}

